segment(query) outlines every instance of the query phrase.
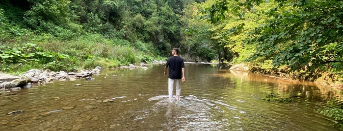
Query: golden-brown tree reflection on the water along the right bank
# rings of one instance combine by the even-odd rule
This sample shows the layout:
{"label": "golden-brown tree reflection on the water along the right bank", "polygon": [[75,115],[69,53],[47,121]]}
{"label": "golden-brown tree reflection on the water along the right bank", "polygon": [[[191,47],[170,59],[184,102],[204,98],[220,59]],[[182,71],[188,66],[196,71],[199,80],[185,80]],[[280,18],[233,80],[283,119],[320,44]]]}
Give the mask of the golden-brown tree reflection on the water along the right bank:
{"label": "golden-brown tree reflection on the water along the right bank", "polygon": [[[319,86],[310,82],[298,82],[294,80],[278,79],[277,77],[265,77],[262,75],[251,74],[244,71],[225,70],[217,71],[217,74],[212,76],[229,78],[231,83],[236,83],[236,87],[241,87],[241,83],[249,83],[247,86],[258,87],[260,92],[245,89],[251,93],[263,93],[268,95],[270,93],[277,94],[277,97],[289,98],[300,97],[301,100],[312,101],[327,101],[333,97],[338,97],[342,100],[340,90],[333,90],[331,87]],[[253,88],[254,89],[254,88]]]}

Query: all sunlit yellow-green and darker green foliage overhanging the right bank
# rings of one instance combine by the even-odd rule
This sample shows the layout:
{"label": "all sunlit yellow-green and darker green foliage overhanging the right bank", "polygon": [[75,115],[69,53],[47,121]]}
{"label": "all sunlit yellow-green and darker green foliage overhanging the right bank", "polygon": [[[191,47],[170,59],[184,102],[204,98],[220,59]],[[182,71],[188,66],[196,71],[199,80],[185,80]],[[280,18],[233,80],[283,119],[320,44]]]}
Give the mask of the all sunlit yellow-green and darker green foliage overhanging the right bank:
{"label": "all sunlit yellow-green and darker green foliage overhanging the right bank", "polygon": [[[255,66],[272,60],[274,69],[288,66],[302,80],[314,81],[326,71],[335,74],[334,81],[343,76],[342,1],[208,0],[204,4],[198,12],[200,20],[214,25],[213,47],[223,60],[246,59]],[[246,48],[249,45],[256,48]]]}

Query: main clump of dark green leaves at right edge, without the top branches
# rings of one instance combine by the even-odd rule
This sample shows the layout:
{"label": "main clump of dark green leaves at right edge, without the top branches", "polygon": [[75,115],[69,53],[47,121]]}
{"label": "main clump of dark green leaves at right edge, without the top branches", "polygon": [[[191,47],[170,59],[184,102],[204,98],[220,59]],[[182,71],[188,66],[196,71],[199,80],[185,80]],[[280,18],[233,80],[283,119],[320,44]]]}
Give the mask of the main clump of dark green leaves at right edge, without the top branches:
{"label": "main clump of dark green leaves at right edge, without the top branches", "polygon": [[260,36],[255,41],[257,52],[252,58],[273,58],[273,66],[288,65],[307,74],[315,74],[323,66],[342,70],[343,30],[337,18],[343,17],[343,2],[313,0],[293,2],[292,6],[281,4],[285,9],[279,7],[280,11],[269,12],[273,18],[257,30]]}

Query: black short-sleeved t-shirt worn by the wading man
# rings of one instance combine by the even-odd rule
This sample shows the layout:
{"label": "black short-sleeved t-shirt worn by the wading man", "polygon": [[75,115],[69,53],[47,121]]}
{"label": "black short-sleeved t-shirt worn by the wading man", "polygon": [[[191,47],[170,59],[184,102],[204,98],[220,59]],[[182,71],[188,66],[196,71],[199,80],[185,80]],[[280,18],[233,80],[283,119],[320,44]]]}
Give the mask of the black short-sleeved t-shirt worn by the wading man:
{"label": "black short-sleeved t-shirt worn by the wading man", "polygon": [[170,79],[181,79],[182,78],[182,68],[185,68],[184,59],[180,56],[169,57],[166,67],[169,66],[169,77]]}

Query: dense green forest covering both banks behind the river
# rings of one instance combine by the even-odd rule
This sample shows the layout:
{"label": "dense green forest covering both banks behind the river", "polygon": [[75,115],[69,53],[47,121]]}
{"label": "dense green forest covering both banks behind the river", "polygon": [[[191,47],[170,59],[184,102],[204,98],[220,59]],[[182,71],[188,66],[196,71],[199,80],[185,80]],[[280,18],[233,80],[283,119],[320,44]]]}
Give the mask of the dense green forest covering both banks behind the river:
{"label": "dense green forest covering both banks behind the river", "polygon": [[1,0],[1,71],[165,60],[343,81],[341,0]]}

